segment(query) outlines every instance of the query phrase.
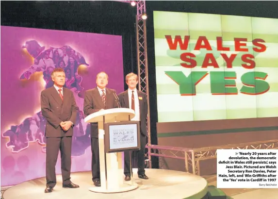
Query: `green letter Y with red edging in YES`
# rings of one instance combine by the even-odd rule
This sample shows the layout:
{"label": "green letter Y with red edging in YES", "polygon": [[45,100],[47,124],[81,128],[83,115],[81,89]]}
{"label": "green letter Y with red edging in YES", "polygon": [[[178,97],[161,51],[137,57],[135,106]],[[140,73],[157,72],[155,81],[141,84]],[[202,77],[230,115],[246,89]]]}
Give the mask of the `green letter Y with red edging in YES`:
{"label": "green letter Y with red edging in YES", "polygon": [[180,95],[196,95],[196,85],[208,72],[193,71],[188,77],[182,71],[165,71],[165,74],[180,85]]}

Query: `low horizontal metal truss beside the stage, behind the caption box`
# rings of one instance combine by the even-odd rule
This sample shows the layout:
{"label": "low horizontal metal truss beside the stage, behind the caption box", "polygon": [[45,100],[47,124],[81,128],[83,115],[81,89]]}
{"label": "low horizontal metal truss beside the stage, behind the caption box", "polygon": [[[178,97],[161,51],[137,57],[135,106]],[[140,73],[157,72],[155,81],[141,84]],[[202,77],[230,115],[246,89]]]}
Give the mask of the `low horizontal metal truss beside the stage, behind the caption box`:
{"label": "low horizontal metal truss beside the stage, behind the caption box", "polygon": [[149,156],[160,157],[160,168],[167,168],[164,158],[182,159],[185,163],[186,172],[200,175],[200,161],[216,159],[217,149],[278,149],[278,140],[206,147],[199,149],[187,149],[159,145],[149,145],[147,148],[149,151]]}

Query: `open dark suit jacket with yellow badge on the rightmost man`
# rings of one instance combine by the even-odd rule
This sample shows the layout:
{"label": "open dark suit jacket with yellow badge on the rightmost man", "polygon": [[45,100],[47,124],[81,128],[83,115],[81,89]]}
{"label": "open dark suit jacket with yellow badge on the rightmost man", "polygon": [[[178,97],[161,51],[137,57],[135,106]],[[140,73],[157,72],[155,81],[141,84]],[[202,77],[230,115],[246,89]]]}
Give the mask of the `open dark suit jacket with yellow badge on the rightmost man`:
{"label": "open dark suit jacket with yellow badge on the rightmost man", "polygon": [[[140,109],[140,130],[141,134],[147,135],[147,95],[139,90],[137,90],[139,99],[139,109]],[[130,108],[129,93],[128,90],[120,93],[118,95],[120,104],[122,108]]]}

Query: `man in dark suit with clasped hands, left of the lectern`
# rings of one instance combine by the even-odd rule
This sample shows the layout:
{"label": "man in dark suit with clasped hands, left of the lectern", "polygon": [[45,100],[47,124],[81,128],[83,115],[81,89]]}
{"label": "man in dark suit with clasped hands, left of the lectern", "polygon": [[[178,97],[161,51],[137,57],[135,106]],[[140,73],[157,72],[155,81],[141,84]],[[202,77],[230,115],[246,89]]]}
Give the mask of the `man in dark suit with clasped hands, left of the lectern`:
{"label": "man in dark suit with clasped hands, left of the lectern", "polygon": [[55,68],[51,73],[54,85],[41,92],[42,115],[46,118],[46,181],[45,193],[52,192],[56,185],[55,165],[59,149],[61,151],[61,170],[63,187],[78,188],[70,181],[71,144],[73,126],[76,121],[78,107],[73,93],[64,88],[65,72]]}

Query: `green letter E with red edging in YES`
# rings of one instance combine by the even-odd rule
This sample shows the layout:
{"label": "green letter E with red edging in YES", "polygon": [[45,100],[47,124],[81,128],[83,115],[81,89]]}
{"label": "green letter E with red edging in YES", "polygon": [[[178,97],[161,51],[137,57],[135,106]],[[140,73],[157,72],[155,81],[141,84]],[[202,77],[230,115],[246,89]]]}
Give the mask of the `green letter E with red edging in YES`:
{"label": "green letter E with red edging in YES", "polygon": [[213,95],[237,94],[235,79],[236,73],[233,71],[210,72],[211,92]]}

